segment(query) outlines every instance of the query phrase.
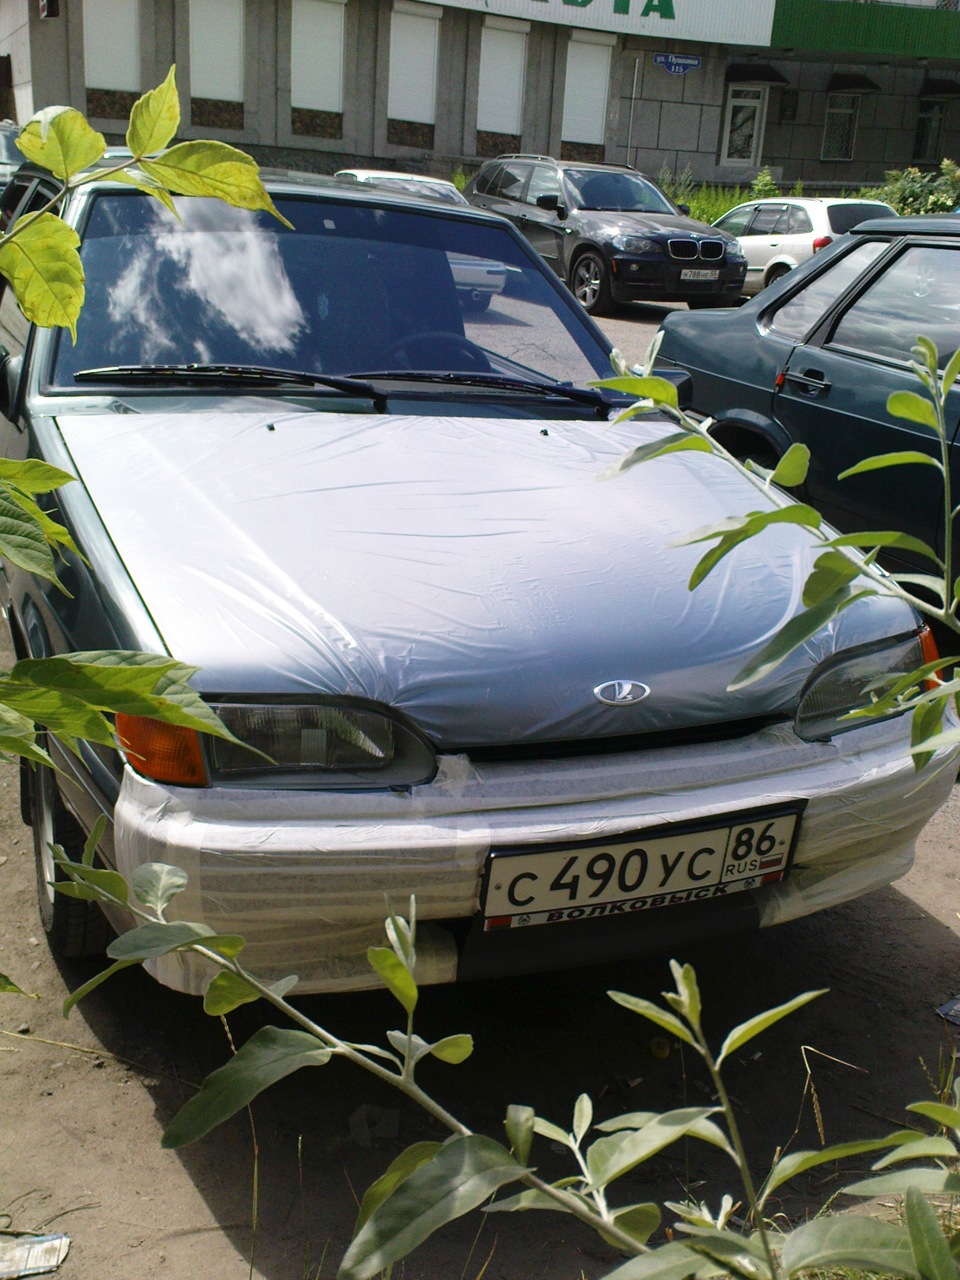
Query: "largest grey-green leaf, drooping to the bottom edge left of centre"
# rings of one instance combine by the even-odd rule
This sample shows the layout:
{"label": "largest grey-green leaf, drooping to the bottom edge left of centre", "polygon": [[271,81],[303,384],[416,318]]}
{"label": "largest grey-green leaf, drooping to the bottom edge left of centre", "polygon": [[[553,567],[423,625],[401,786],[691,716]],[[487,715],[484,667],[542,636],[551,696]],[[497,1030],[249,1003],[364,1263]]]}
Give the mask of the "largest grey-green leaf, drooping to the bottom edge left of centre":
{"label": "largest grey-green leaf, drooping to the bottom edge left of centre", "polygon": [[366,1220],[340,1263],[340,1280],[372,1280],[422,1244],[439,1226],[477,1208],[526,1170],[480,1134],[449,1138]]}

